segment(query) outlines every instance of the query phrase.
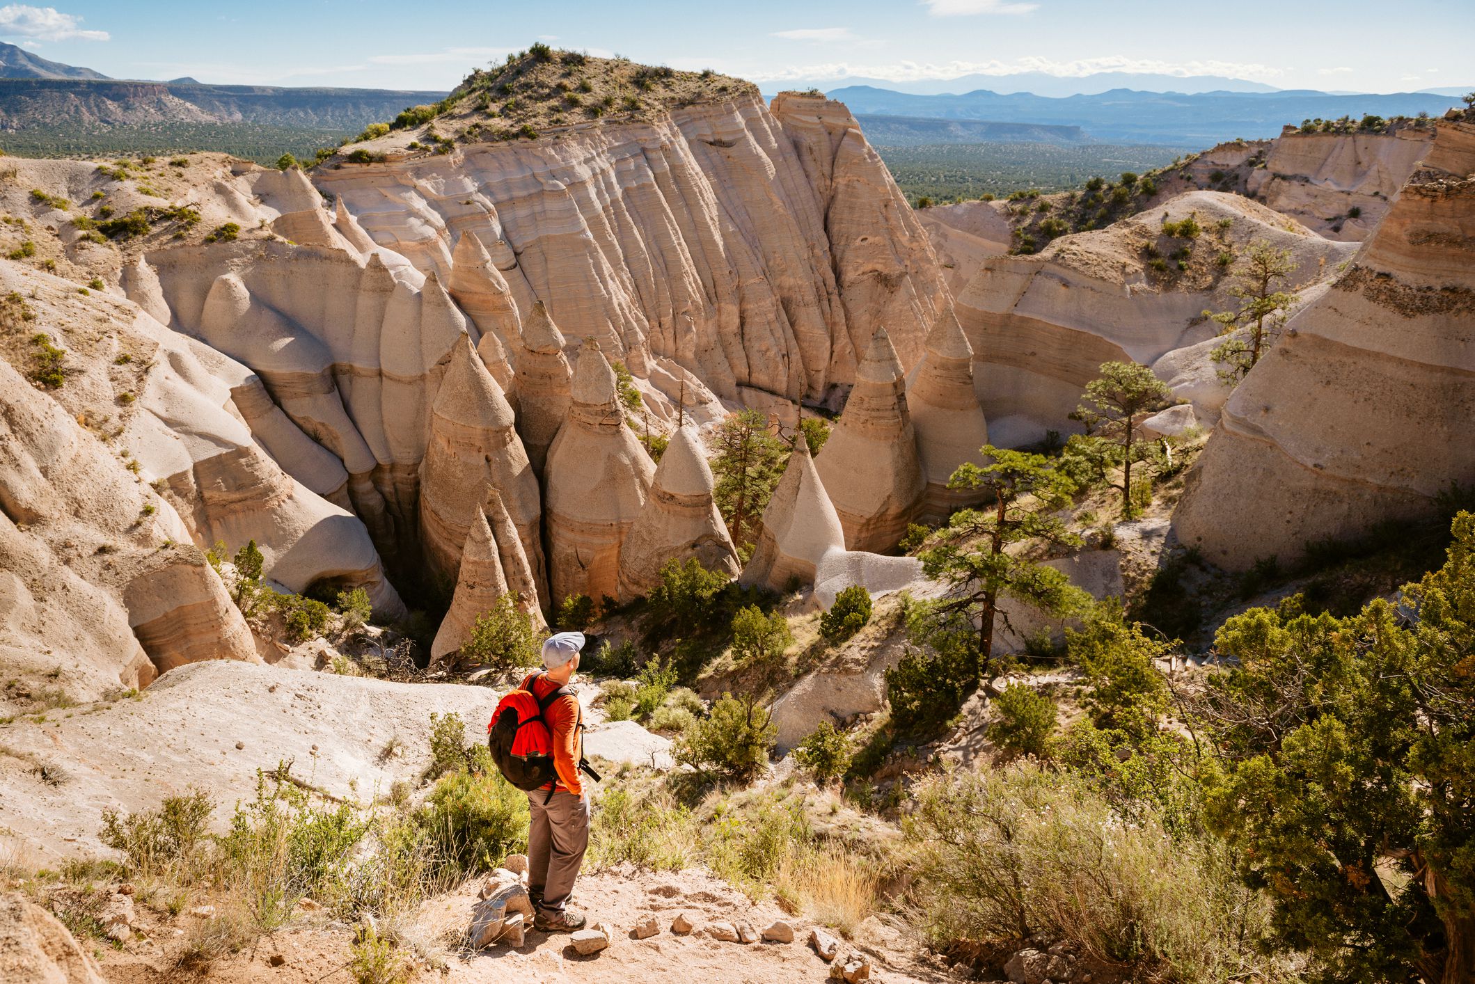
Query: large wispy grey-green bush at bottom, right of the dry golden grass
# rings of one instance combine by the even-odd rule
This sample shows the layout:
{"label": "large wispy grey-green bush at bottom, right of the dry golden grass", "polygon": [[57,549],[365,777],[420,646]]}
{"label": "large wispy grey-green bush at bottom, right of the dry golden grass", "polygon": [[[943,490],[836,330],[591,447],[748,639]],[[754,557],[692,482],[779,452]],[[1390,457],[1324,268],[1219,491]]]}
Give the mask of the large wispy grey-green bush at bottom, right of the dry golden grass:
{"label": "large wispy grey-green bush at bottom, right of the dry golden grass", "polygon": [[1044,932],[1124,978],[1280,980],[1260,949],[1267,907],[1221,845],[1174,841],[1152,817],[1124,825],[1069,773],[935,775],[916,794],[906,829],[938,949]]}

